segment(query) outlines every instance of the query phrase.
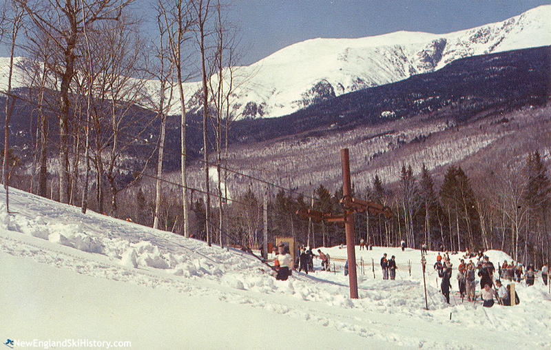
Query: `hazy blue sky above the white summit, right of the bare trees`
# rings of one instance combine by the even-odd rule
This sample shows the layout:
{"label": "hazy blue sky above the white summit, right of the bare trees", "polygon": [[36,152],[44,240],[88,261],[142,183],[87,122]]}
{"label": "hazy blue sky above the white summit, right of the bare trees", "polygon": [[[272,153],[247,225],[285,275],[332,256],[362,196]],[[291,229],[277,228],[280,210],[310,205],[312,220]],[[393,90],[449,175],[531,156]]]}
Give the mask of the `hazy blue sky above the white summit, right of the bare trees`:
{"label": "hazy blue sky above the white summit, right of the bare trees", "polygon": [[[408,30],[444,34],[503,21],[551,0],[235,0],[247,50],[256,62],[293,43]],[[550,19],[551,20],[551,19]]]}

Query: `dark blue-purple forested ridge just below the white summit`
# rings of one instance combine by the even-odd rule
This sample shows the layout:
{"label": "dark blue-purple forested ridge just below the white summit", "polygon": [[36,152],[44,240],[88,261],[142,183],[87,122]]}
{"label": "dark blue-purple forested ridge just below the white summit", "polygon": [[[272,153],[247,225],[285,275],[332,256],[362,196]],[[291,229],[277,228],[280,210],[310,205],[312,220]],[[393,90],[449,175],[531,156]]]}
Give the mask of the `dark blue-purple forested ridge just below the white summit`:
{"label": "dark blue-purple forested ridge just below the white summit", "polygon": [[[233,123],[237,143],[319,135],[421,116],[467,124],[551,97],[551,47],[458,59],[435,72],[320,101],[288,116]],[[320,131],[322,130],[322,131]]]}

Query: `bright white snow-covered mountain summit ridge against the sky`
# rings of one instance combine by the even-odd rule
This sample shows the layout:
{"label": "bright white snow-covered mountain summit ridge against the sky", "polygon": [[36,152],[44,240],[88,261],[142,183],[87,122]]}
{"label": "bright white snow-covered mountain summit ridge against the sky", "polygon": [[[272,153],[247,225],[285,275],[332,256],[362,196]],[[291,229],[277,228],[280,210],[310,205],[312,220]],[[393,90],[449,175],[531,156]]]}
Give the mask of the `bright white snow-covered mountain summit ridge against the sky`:
{"label": "bright white snow-covered mountain summit ridge against the sky", "polygon": [[[551,45],[550,18],[548,5],[449,34],[394,32],[296,43],[235,68],[231,105],[238,119],[283,116],[333,96],[433,72],[466,56]],[[6,85],[7,63],[0,59],[0,89]],[[147,87],[153,99],[157,86],[151,81]],[[185,83],[185,93],[187,110],[200,109],[200,83]],[[171,113],[179,112],[179,103],[174,103]]]}

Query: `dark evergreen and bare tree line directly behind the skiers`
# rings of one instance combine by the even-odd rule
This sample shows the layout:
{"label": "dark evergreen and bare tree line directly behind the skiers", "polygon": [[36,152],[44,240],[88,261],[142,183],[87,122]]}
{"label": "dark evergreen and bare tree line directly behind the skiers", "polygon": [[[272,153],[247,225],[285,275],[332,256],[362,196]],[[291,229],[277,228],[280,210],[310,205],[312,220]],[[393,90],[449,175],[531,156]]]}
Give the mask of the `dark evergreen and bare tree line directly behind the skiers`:
{"label": "dark evergreen and bare tree line directly behind the skiers", "polygon": [[[403,165],[396,183],[385,184],[375,175],[365,189],[354,188],[353,196],[391,207],[394,215],[386,219],[367,212],[355,214],[356,243],[364,238],[377,246],[397,247],[404,240],[408,247],[420,249],[426,244],[438,251],[499,249],[523,263],[541,266],[549,262],[551,182],[539,152],[488,167],[485,178],[475,183],[458,165],[446,169],[440,185],[435,185],[425,165],[419,174],[413,174],[411,165]],[[310,247],[344,244],[344,226],[301,220],[296,215],[301,207],[342,214],[341,198],[342,187],[331,193],[319,185],[306,196],[280,189],[267,206],[269,242],[289,236]],[[244,238],[243,244],[258,245],[262,240],[261,200],[251,188],[239,200],[249,203],[246,220],[256,220],[256,225],[237,225],[243,218],[227,229]]]}

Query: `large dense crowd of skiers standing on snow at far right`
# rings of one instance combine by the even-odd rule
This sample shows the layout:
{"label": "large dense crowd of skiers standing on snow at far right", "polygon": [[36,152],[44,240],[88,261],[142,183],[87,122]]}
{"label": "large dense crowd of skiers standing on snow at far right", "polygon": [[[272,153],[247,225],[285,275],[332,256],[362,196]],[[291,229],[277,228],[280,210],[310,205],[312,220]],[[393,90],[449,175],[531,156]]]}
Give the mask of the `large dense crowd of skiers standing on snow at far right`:
{"label": "large dense crowd of skiers standing on snow at far right", "polygon": [[[490,261],[488,256],[484,254],[479,254],[479,259],[477,264],[472,262],[472,259],[465,263],[466,258],[473,258],[471,254],[467,252],[464,258],[460,259],[460,264],[457,267],[457,282],[459,285],[459,294],[461,300],[467,296],[468,301],[475,301],[478,296],[482,298],[484,307],[492,307],[494,305],[494,300],[497,300],[499,304],[510,306],[511,305],[511,287],[510,284],[507,287],[503,286],[501,279],[509,280],[510,282],[521,282],[522,274],[525,274],[526,285],[530,286],[534,284],[534,269],[531,265],[526,269],[526,273],[523,272],[523,266],[521,264],[514,265],[514,262],[508,264],[506,261],[503,262],[503,265],[499,265],[498,276],[494,280],[495,276],[495,265]],[[450,257],[448,254],[441,256],[438,253],[436,258],[436,263],[434,265],[435,270],[438,272],[438,276],[441,278],[440,290],[446,302],[450,303],[450,288],[451,285],[451,276],[452,276],[452,263],[450,263]],[[548,269],[545,265],[545,280],[547,279]],[[480,292],[476,293],[476,277],[480,278]],[[500,279],[501,278],[501,279]],[[546,282],[546,281],[545,281]],[[519,303],[519,296],[517,293],[514,293],[514,304]]]}

